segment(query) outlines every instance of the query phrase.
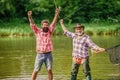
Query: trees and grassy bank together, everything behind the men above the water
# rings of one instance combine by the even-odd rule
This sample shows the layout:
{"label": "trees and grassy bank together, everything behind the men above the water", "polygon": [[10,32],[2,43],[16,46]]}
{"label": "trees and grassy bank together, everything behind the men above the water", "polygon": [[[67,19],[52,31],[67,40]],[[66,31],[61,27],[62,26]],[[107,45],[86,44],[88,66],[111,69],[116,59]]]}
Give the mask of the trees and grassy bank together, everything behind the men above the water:
{"label": "trees and grassy bank together, everything behind the men above the water", "polygon": [[[58,6],[59,19],[64,19],[70,30],[74,23],[80,23],[87,27],[88,34],[120,32],[120,0],[0,0],[0,36],[32,35],[27,12],[33,11],[33,19],[40,26],[43,19],[52,21]],[[54,34],[61,33],[57,27]]]}

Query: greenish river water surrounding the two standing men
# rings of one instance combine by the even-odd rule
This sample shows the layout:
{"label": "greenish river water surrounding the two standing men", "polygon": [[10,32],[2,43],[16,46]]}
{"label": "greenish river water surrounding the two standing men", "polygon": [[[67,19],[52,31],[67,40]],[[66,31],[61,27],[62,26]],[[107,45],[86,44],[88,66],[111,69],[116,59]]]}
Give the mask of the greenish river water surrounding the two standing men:
{"label": "greenish river water surrounding the two standing men", "polygon": [[[120,36],[91,36],[101,47],[111,47],[120,43]],[[65,36],[52,38],[54,80],[70,80],[71,39]],[[35,37],[0,38],[0,80],[31,80],[34,67]],[[90,66],[93,80],[120,80],[120,66],[109,60],[107,52],[90,53]],[[85,77],[79,68],[78,80]],[[42,66],[37,80],[48,80],[45,66]]]}

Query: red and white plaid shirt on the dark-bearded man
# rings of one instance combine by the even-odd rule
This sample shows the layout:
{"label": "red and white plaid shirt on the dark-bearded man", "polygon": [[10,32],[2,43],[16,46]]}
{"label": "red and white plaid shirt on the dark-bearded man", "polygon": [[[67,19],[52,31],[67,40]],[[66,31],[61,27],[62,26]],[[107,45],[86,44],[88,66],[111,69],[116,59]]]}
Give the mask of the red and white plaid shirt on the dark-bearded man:
{"label": "red and white plaid shirt on the dark-bearded man", "polygon": [[53,51],[53,44],[51,35],[54,31],[55,24],[51,24],[49,31],[44,33],[42,29],[38,28],[36,24],[30,24],[35,36],[36,36],[36,52],[50,52]]}

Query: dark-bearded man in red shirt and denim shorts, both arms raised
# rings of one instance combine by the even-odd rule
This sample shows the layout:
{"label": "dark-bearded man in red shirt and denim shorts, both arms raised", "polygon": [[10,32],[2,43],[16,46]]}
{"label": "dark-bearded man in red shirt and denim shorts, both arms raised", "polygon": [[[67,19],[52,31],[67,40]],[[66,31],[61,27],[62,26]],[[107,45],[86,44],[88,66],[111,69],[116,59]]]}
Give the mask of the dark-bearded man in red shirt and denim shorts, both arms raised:
{"label": "dark-bearded man in red shirt and denim shorts, both arms raised", "polygon": [[59,16],[60,9],[56,8],[55,16],[52,23],[49,25],[48,20],[41,21],[42,28],[38,28],[32,19],[32,11],[28,11],[28,19],[30,22],[30,27],[36,36],[36,59],[34,64],[34,71],[32,73],[32,80],[36,80],[37,74],[41,69],[42,64],[48,72],[49,80],[53,80],[52,73],[52,51],[53,44],[51,40],[52,33],[54,31],[57,18]]}

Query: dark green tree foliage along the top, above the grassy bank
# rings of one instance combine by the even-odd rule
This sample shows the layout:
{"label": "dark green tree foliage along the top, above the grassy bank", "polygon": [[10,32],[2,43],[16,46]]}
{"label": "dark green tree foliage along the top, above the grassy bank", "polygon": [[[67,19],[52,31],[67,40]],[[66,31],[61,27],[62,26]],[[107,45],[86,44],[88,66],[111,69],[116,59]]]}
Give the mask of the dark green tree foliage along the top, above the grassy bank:
{"label": "dark green tree foliage along the top, above the grassy bank", "polygon": [[22,18],[32,10],[35,18],[52,20],[58,6],[61,6],[60,18],[69,23],[94,19],[120,22],[119,0],[0,0],[0,18]]}

